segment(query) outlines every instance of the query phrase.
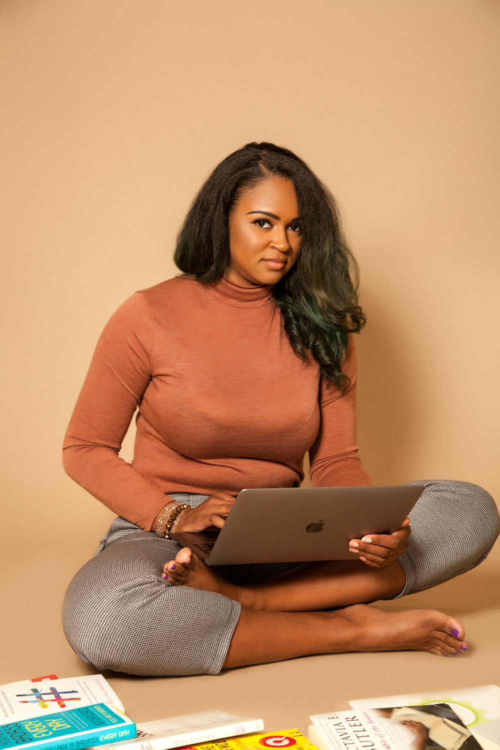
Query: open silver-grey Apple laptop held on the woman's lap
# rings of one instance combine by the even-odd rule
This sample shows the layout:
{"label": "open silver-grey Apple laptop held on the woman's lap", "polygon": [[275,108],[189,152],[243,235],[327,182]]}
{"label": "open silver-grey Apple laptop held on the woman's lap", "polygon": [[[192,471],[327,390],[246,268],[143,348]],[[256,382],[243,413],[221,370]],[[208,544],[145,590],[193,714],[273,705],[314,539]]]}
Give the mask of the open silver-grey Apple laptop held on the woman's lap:
{"label": "open silver-grey Apple laptop held on the woman's lap", "polygon": [[222,529],[174,532],[208,565],[355,559],[349,539],[400,528],[424,486],[241,490]]}

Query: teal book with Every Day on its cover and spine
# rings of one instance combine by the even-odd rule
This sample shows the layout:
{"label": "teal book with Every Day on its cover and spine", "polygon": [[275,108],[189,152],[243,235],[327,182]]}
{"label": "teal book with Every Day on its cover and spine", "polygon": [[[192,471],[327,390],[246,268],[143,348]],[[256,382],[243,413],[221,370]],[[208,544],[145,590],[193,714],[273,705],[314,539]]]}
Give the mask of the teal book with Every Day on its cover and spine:
{"label": "teal book with Every Day on its cover and spine", "polygon": [[136,724],[110,703],[0,724],[0,750],[83,750],[133,739]]}

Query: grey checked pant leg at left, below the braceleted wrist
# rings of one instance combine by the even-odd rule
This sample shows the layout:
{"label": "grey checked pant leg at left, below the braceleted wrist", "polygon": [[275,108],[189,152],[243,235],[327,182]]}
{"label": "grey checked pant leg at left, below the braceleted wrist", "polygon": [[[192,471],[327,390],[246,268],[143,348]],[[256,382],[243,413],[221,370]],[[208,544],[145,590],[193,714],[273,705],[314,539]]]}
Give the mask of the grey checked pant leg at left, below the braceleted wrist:
{"label": "grey checked pant leg at left, below the braceleted wrist", "polygon": [[163,565],[179,548],[137,529],[76,573],[64,599],[63,627],[82,661],[142,676],[220,671],[241,605],[214,592],[168,586]]}

